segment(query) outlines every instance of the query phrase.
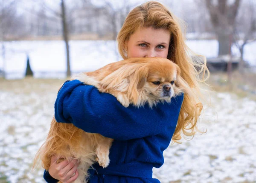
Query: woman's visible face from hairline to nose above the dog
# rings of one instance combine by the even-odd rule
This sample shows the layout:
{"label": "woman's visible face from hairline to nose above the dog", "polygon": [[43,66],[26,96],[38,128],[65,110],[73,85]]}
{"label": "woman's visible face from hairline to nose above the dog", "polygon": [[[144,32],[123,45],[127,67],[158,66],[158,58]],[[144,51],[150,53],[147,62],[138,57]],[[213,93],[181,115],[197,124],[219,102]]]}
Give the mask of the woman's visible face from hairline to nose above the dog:
{"label": "woman's visible face from hairline to nose above the dog", "polygon": [[142,28],[127,41],[127,56],[167,58],[170,32],[165,29]]}

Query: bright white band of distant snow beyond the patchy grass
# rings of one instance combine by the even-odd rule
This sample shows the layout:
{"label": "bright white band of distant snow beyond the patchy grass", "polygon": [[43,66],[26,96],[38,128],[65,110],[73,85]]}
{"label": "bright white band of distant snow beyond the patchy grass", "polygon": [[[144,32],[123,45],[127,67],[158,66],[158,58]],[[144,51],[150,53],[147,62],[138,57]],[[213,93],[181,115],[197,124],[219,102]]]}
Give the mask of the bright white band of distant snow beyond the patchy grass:
{"label": "bright white band of distant snow beyond the patchy grass", "polygon": [[[188,40],[187,45],[195,53],[207,58],[218,56],[217,40]],[[121,60],[117,53],[115,41],[70,41],[71,71],[91,71],[108,63]],[[0,50],[0,69],[4,68],[7,78],[22,78],[29,56],[35,77],[64,77],[66,71],[65,44],[63,41],[12,41],[5,42],[5,58]],[[239,50],[233,46],[233,54],[240,56]],[[244,48],[244,59],[256,66],[256,42],[247,44]],[[4,61],[5,60],[5,61]],[[43,74],[42,74],[43,73]],[[62,74],[60,74],[62,73]]]}

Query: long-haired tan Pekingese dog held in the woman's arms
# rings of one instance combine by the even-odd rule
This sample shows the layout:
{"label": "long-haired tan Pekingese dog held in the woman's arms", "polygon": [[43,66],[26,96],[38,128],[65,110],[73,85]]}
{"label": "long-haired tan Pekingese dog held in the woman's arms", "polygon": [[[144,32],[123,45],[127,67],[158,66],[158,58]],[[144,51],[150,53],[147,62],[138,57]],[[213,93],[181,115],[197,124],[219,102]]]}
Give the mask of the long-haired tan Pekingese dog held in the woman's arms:
{"label": "long-haired tan Pekingese dog held in the woman's arms", "polygon": [[[180,76],[180,68],[164,58],[130,58],[108,64],[96,71],[79,74],[73,79],[93,85],[100,92],[112,94],[125,107],[171,102],[171,98],[189,93],[189,86]],[[52,119],[47,140],[36,154],[34,165],[40,158],[48,170],[53,155],[79,160],[79,177],[75,183],[86,183],[88,169],[96,161],[107,167],[109,149],[113,139],[100,134],[87,133],[73,124],[57,123]]]}

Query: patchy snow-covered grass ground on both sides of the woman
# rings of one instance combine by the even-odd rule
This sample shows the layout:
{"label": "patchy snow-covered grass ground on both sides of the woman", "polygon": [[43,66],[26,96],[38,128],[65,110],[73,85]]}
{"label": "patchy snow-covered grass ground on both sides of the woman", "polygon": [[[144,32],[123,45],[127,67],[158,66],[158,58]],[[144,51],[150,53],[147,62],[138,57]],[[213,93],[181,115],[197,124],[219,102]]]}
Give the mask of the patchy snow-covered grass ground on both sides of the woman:
{"label": "patchy snow-covered grass ground on both sides of the woman", "polygon": [[[63,81],[0,79],[0,183],[44,182],[43,170],[31,173],[31,164]],[[211,107],[199,126],[207,134],[166,149],[164,165],[154,169],[161,183],[256,182],[256,101],[231,93],[210,95]]]}

